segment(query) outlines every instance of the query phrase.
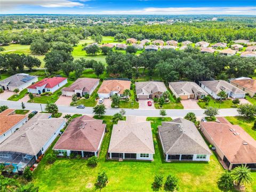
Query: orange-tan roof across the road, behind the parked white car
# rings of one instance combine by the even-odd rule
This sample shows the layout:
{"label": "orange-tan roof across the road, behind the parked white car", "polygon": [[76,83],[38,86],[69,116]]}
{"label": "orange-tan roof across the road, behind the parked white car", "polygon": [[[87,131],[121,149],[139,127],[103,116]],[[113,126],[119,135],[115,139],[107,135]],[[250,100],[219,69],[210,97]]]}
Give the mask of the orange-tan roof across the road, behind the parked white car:
{"label": "orange-tan roof across the road, behind the parked white car", "polygon": [[131,82],[123,80],[106,80],[100,86],[98,93],[110,93],[111,91],[118,91],[119,94],[123,94],[124,90],[130,90]]}

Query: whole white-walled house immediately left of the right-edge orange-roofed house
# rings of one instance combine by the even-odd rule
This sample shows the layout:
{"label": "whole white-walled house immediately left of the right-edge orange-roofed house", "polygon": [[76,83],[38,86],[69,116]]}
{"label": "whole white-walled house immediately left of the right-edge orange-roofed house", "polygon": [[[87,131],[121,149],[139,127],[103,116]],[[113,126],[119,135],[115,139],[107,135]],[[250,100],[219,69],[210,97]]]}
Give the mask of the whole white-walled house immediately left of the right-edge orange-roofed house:
{"label": "whole white-walled house immediately left of the right-edge orange-roofed house", "polygon": [[223,80],[201,81],[199,82],[199,86],[201,86],[203,90],[210,94],[214,99],[221,99],[218,96],[218,93],[221,91],[225,91],[228,98],[231,97],[236,99],[245,97],[244,91]]}

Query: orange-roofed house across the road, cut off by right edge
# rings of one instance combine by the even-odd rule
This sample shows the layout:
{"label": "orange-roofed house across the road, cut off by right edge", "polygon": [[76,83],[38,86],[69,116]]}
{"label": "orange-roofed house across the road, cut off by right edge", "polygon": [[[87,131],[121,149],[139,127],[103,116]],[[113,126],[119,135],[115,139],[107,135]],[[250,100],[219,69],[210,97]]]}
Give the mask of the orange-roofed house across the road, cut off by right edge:
{"label": "orange-roofed house across the road, cut off by right edge", "polygon": [[243,77],[243,78],[236,78],[232,79],[230,83],[237,88],[245,91],[250,95],[250,97],[253,97],[256,94],[256,80]]}

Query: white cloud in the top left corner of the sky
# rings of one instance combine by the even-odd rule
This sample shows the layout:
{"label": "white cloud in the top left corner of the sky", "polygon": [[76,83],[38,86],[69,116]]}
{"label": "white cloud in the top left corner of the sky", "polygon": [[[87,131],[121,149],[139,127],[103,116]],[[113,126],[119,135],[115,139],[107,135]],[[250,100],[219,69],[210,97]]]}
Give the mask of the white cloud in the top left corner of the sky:
{"label": "white cloud in the top left corner of the sky", "polygon": [[[84,1],[84,0],[83,0]],[[15,7],[30,5],[42,7],[83,7],[83,3],[70,0],[1,0],[1,10],[12,10]]]}

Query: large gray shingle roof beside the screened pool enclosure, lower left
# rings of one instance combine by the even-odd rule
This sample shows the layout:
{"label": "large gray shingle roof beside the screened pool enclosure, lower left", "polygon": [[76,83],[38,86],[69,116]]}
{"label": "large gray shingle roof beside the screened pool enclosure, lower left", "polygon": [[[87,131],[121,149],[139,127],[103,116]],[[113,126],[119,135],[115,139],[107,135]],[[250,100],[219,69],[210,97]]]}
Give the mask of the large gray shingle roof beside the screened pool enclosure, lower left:
{"label": "large gray shingle roof beside the screened pool enclosure, lower left", "polygon": [[[49,118],[51,114],[36,114],[0,145],[1,151],[36,155],[59,127],[63,118]],[[58,133],[56,133],[58,134]]]}

